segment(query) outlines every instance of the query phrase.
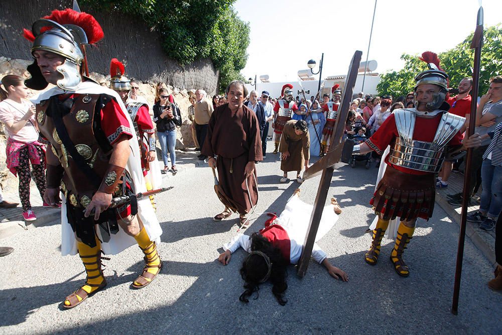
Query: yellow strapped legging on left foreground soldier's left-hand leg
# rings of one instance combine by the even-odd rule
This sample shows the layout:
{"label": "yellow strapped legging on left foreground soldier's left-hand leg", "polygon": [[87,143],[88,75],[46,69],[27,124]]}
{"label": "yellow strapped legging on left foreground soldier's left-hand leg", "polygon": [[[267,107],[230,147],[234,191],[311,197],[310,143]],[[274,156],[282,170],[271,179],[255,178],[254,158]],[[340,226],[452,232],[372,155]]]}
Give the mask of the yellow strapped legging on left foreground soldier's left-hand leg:
{"label": "yellow strapped legging on left foreground soldier's left-hand leg", "polygon": [[[91,294],[92,292],[100,289],[99,285],[104,281],[104,277],[101,272],[101,243],[98,239],[96,239],[96,246],[91,248],[85,243],[77,241],[77,248],[87,274],[85,285],[81,288],[88,294]],[[79,295],[77,295],[77,299],[78,301],[82,301],[82,297]],[[65,300],[64,304],[69,306],[70,301]]]}

